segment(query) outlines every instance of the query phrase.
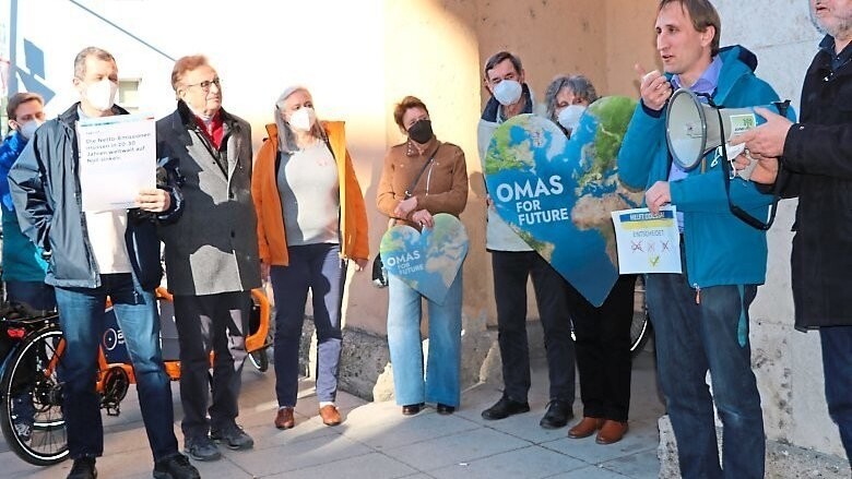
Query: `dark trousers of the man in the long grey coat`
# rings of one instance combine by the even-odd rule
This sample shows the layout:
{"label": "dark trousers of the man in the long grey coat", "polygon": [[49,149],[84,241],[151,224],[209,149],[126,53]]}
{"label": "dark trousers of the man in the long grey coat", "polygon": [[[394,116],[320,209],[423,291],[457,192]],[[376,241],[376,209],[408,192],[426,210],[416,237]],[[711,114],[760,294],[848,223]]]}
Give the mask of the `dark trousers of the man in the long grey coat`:
{"label": "dark trousers of the man in the long grey coat", "polygon": [[[251,291],[175,296],[184,406],[181,429],[186,439],[205,436],[211,428],[236,423],[250,310]],[[212,385],[208,375],[211,351],[215,352]]]}

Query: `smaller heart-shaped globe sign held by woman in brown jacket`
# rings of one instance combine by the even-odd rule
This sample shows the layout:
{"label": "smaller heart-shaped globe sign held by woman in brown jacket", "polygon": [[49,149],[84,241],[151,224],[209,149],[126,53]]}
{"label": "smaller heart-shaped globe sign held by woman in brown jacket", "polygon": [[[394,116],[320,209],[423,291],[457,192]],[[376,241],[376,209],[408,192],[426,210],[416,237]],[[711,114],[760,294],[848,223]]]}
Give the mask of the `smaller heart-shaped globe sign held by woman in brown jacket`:
{"label": "smaller heart-shaped globe sign held by woman in brown jacket", "polygon": [[433,218],[435,226],[423,228],[423,232],[409,225],[388,229],[379,252],[388,274],[443,304],[468,255],[468,231],[455,216],[439,213]]}

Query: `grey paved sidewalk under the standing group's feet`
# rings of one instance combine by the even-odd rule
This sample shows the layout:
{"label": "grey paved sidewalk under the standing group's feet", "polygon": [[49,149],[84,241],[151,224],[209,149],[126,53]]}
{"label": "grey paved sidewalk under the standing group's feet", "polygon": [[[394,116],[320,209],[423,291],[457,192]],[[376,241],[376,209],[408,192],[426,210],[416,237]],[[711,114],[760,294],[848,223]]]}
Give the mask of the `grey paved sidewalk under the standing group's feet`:
{"label": "grey paved sidewalk under the standing group's feet", "polygon": [[[344,422],[329,428],[317,416],[312,382],[303,381],[296,427],[279,431],[272,426],[274,373],[259,373],[247,363],[239,422],[255,438],[255,450],[223,448],[222,460],[196,465],[208,479],[658,477],[656,419],[663,407],[650,352],[642,352],[634,366],[630,431],[622,442],[606,446],[596,444],[593,436],[568,439],[567,428],[548,431],[539,427],[547,403],[547,375],[542,360],[533,367],[532,411],[501,421],[480,417],[500,396],[497,385],[481,384],[464,392],[462,407],[452,416],[427,408],[403,417],[393,403],[367,403],[341,394],[338,405]],[[179,418],[177,384],[173,391]],[[132,387],[121,406],[120,417],[105,417],[106,451],[97,462],[98,477],[150,478],[153,462]],[[575,414],[582,414],[579,399]],[[178,440],[182,445],[180,435]],[[9,452],[2,439],[0,464],[2,478],[64,478],[71,466],[70,462],[49,468],[31,466]]]}

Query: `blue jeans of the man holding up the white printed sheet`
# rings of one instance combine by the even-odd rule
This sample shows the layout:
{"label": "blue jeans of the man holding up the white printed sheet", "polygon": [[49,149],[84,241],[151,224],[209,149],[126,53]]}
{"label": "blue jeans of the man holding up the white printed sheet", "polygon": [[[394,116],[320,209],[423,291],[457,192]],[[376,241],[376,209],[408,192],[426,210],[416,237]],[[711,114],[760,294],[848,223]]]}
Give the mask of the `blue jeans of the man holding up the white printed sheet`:
{"label": "blue jeans of the man holding up the white printed sheet", "polygon": [[171,388],[159,350],[154,292],[141,289],[129,273],[100,275],[100,283],[98,288],[56,288],[61,311],[59,324],[67,343],[58,372],[63,379],[62,411],[71,458],[104,453],[95,371],[107,296],[113,300],[133,362],[139,405],[154,460],[177,454]]}

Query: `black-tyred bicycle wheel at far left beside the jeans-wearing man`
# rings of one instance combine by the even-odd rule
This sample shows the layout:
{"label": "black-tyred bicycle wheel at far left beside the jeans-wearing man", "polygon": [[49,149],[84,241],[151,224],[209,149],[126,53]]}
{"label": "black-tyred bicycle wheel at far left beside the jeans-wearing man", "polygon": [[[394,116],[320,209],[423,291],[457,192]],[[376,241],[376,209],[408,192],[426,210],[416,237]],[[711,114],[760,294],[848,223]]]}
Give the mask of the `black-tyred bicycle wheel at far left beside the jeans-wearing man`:
{"label": "black-tyred bicycle wheel at far left beside the jeans-wearing man", "polygon": [[64,343],[57,325],[31,334],[15,349],[0,381],[0,429],[5,442],[20,458],[36,466],[68,457],[57,378],[60,344]]}

